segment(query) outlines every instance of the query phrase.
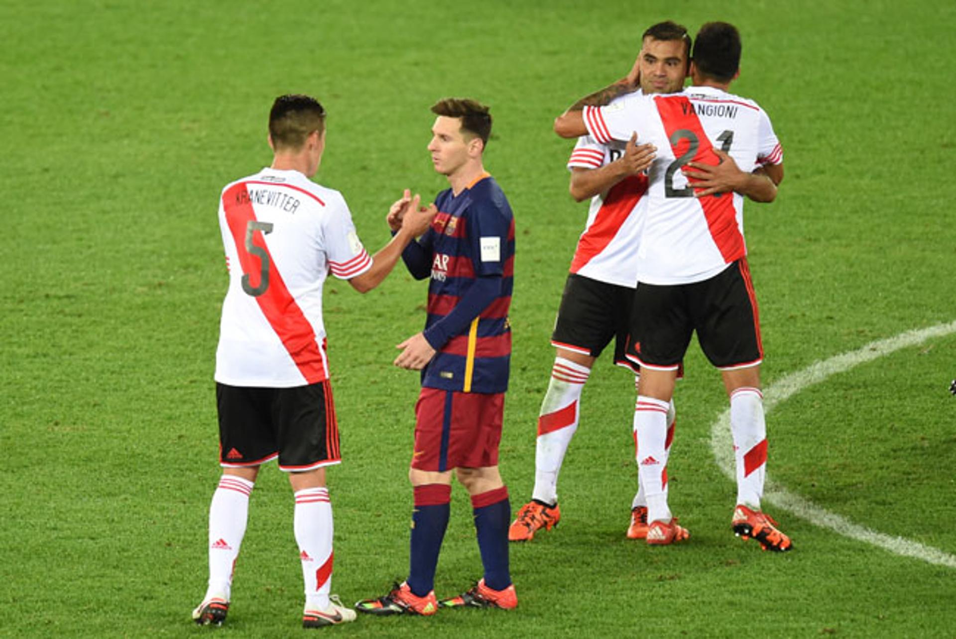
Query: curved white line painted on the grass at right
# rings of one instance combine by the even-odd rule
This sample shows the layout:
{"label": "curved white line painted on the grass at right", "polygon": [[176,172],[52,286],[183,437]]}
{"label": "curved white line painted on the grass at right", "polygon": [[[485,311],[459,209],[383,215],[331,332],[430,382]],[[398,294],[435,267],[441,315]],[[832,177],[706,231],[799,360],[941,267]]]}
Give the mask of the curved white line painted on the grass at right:
{"label": "curved white line painted on the grass at right", "polygon": [[[830,375],[849,371],[859,364],[872,361],[878,357],[899,351],[908,346],[922,344],[932,337],[941,337],[956,332],[956,321],[948,324],[938,324],[921,330],[908,330],[895,337],[871,342],[858,351],[844,352],[822,362],[816,362],[810,367],[786,375],[764,391],[764,411],[770,413],[774,406],[799,393],[804,389],[818,384]],[[717,465],[733,481],[733,438],[730,437],[730,411],[720,415],[710,428],[710,448],[713,451]],[[801,517],[816,525],[830,528],[845,537],[860,542],[872,543],[904,557],[914,557],[929,564],[946,565],[956,568],[956,556],[950,555],[938,548],[914,542],[903,537],[892,537],[875,530],[870,530],[857,523],[850,522],[844,517],[817,506],[812,501],[803,499],[778,485],[770,478],[767,479],[765,499],[778,507],[789,510],[797,517]]]}

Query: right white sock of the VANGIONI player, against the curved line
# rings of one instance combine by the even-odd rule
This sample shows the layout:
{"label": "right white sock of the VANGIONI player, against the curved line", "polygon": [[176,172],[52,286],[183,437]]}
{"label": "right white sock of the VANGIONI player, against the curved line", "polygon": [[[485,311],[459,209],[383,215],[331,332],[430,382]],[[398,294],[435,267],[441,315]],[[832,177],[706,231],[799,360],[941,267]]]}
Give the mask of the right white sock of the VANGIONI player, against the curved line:
{"label": "right white sock of the VANGIONI player, against the curved line", "polygon": [[730,432],[737,466],[737,503],[760,510],[767,475],[767,424],[760,389],[730,394]]}

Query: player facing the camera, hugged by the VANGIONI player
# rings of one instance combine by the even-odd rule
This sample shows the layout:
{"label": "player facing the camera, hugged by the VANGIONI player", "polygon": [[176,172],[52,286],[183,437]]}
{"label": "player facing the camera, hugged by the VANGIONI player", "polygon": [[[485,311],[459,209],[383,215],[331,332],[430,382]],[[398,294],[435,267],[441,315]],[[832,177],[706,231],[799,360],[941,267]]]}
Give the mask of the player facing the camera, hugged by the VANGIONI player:
{"label": "player facing the camera, hugged by the VANGIONI player", "polygon": [[[571,109],[606,103],[608,96],[634,91],[680,91],[689,53],[686,28],[670,21],[653,25],[641,35],[641,53],[631,73],[611,87],[581,98]],[[577,430],[581,392],[601,351],[615,340],[614,363],[638,372],[638,366],[625,357],[625,346],[637,283],[635,249],[646,204],[643,171],[653,157],[652,145],[638,145],[633,138],[598,142],[584,136],[577,140],[568,160],[571,195],[577,202],[592,200],[554,324],[552,345],[556,351],[537,423],[532,501],[511,523],[512,542],[531,541],[535,532],[551,529],[560,521],[557,478]],[[668,421],[672,427],[673,412]],[[644,536],[646,513],[639,489],[632,502],[629,538]]]}

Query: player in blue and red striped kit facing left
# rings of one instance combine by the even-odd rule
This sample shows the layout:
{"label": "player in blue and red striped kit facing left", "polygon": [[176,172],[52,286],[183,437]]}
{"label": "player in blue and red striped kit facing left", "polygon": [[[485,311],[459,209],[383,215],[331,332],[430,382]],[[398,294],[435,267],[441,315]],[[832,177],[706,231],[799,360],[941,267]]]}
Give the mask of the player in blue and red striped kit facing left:
{"label": "player in blue and red striped kit facing left", "polygon": [[[482,161],[491,130],[488,107],[470,99],[437,102],[428,144],[451,188],[438,214],[402,252],[417,278],[430,278],[425,328],[398,345],[396,366],[422,371],[415,406],[414,492],[408,578],[383,597],[356,604],[372,614],[430,615],[438,607],[517,606],[508,557],[511,505],[498,472],[511,359],[508,309],[514,267],[511,206]],[[393,229],[412,207],[393,205]],[[435,598],[435,567],[445,537],[452,472],[471,495],[484,577],[466,593]]]}

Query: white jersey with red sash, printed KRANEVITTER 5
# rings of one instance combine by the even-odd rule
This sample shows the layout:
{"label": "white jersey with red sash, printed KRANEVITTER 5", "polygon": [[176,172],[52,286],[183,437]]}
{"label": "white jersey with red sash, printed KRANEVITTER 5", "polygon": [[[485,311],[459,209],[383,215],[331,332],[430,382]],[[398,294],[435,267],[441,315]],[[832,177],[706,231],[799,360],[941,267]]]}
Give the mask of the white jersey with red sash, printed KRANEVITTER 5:
{"label": "white jersey with red sash, printed KRANEVITTER 5", "polygon": [[234,181],[219,201],[229,286],[217,382],[289,388],[329,376],[322,284],[372,266],[338,191],[298,171],[265,168]]}

